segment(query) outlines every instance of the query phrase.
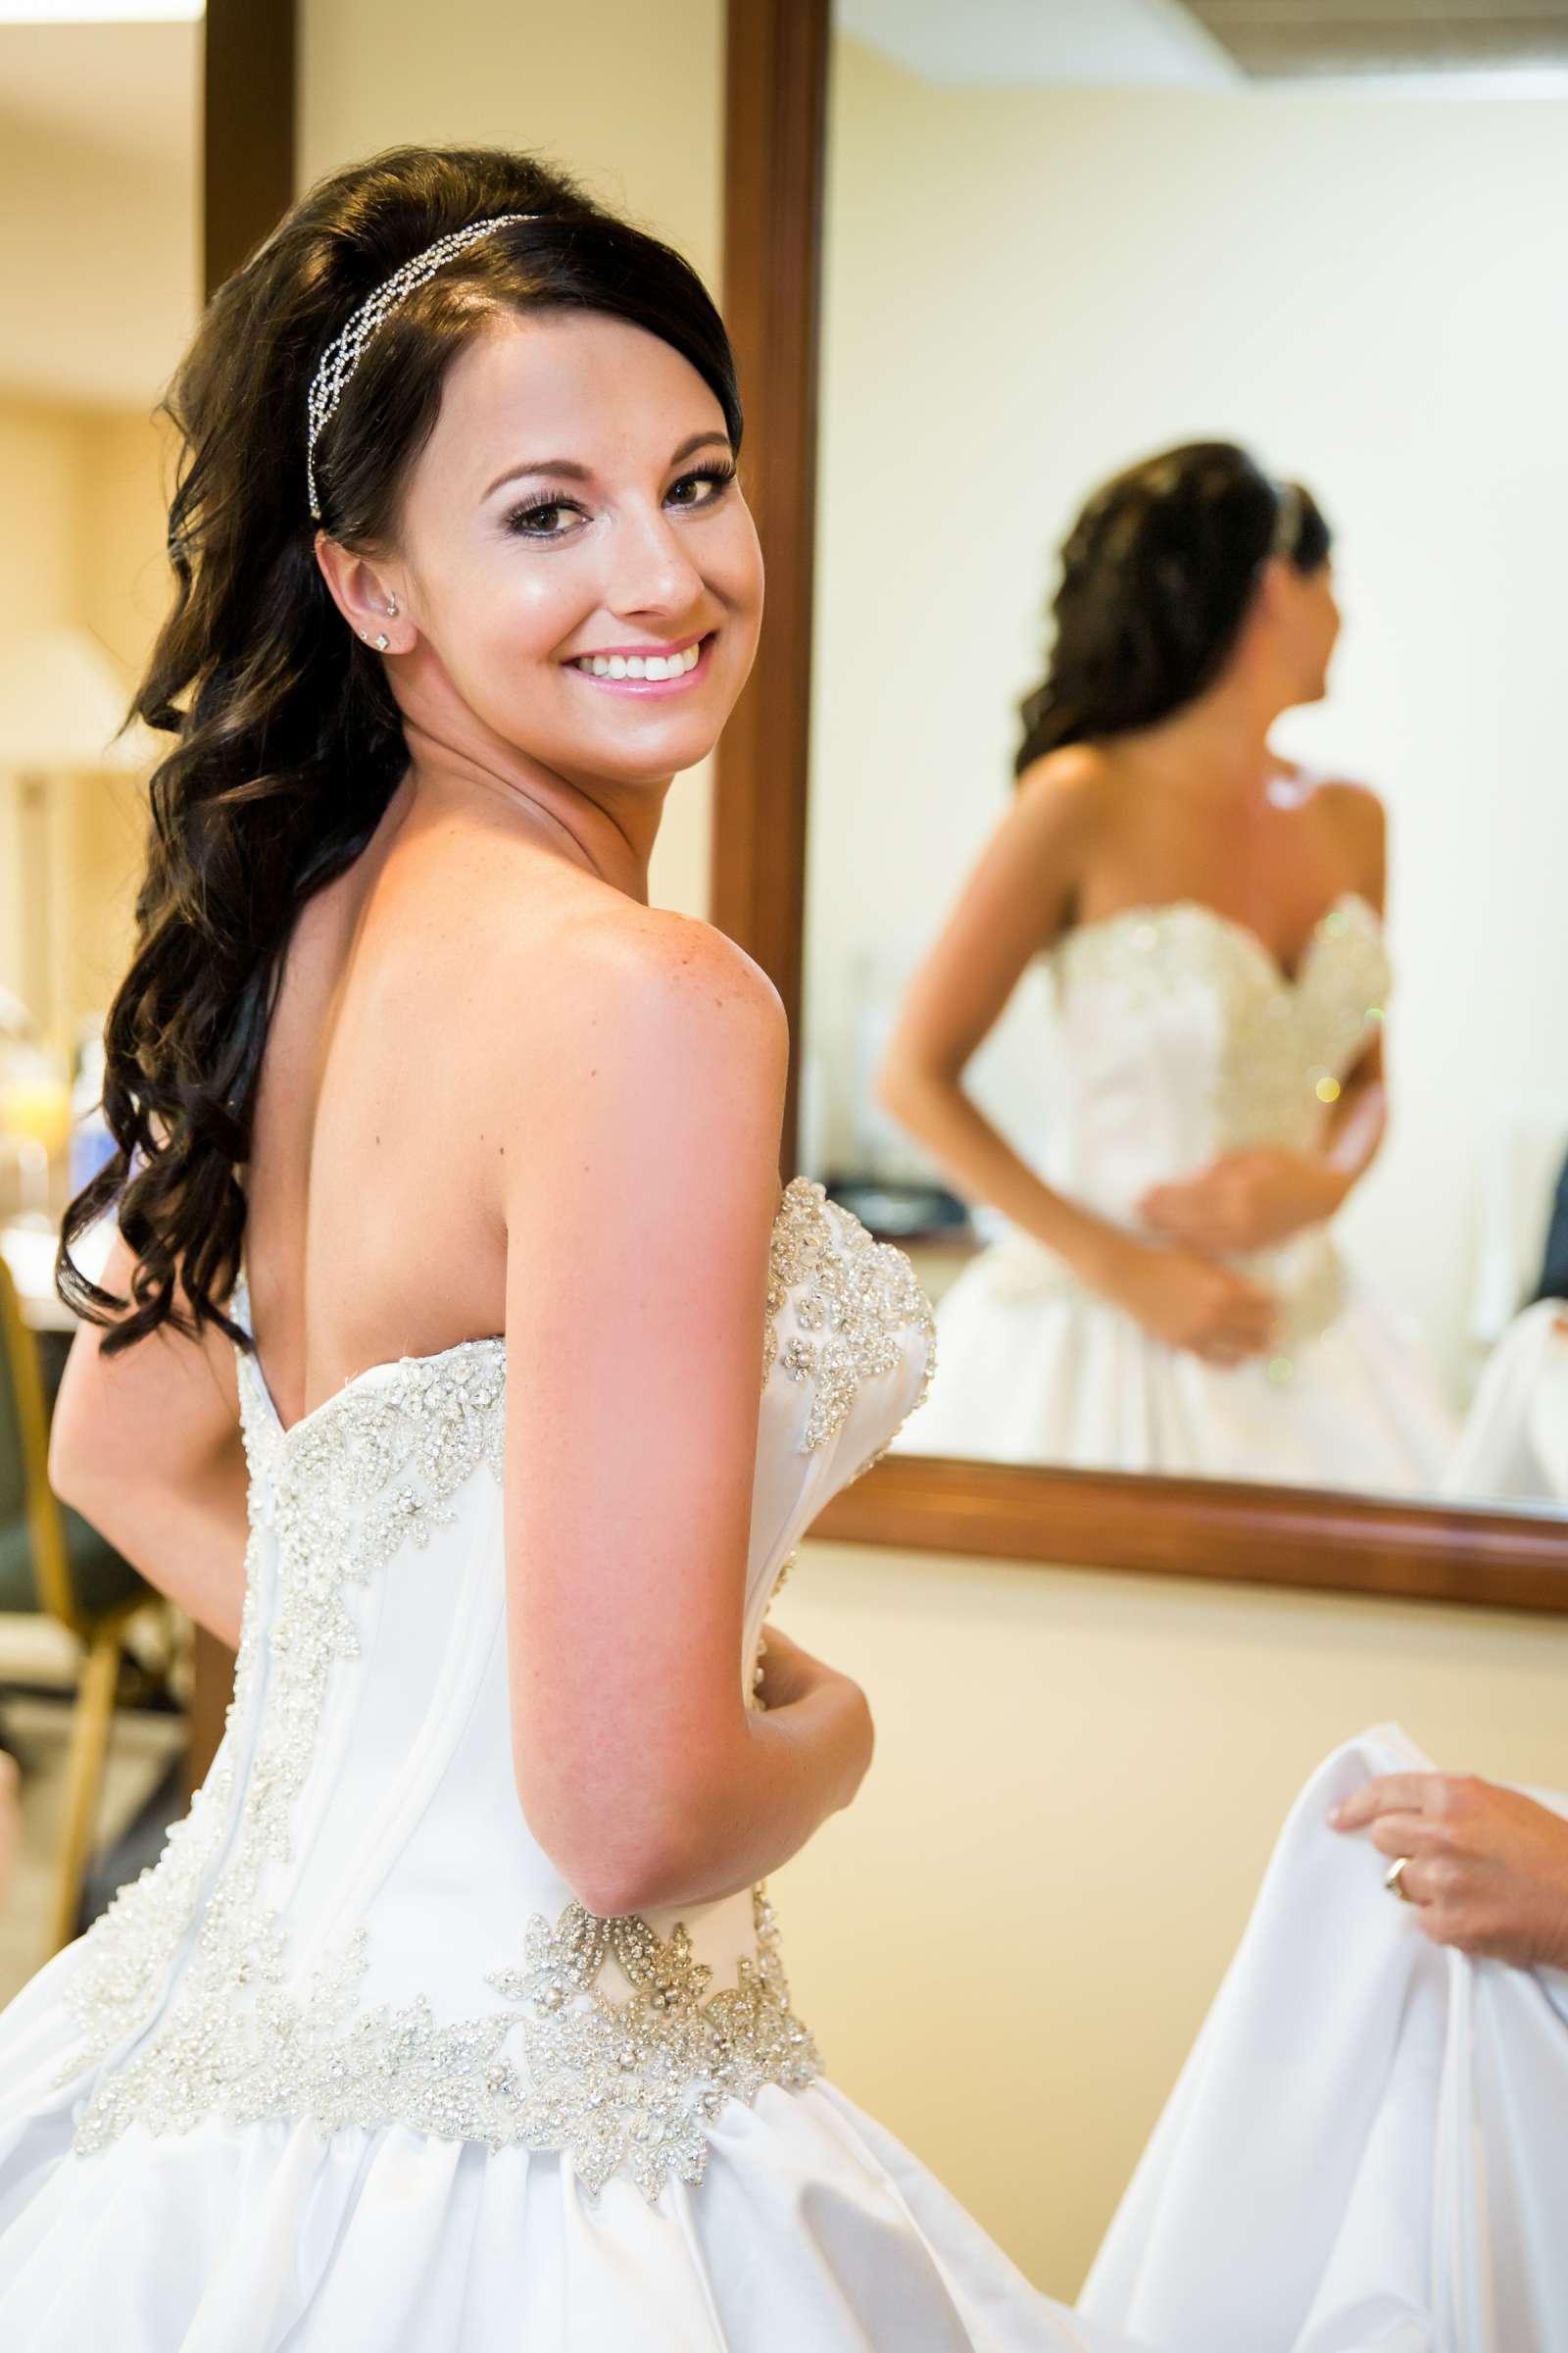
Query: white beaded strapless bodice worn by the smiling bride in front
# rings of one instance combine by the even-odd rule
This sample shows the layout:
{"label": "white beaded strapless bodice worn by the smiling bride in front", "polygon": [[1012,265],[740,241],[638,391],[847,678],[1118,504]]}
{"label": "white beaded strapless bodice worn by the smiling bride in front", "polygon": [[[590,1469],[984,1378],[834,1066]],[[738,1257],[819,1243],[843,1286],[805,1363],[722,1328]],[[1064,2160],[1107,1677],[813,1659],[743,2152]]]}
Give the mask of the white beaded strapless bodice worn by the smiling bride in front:
{"label": "white beaded strapless bodice worn by the smiling bride in front", "polygon": [[[249,1327],[244,1285],[230,1311]],[[745,1642],[924,1393],[907,1259],[795,1179],[773,1221]],[[282,1428],[237,1351],[247,1598],[223,1744],[66,1977],[75,2146],[273,2115],[522,2141],[597,2191],[816,2073],[764,1889],[599,1920],[529,1835],[505,1666],[505,1341],[376,1365]],[[614,1475],[614,1466],[607,1466]]]}

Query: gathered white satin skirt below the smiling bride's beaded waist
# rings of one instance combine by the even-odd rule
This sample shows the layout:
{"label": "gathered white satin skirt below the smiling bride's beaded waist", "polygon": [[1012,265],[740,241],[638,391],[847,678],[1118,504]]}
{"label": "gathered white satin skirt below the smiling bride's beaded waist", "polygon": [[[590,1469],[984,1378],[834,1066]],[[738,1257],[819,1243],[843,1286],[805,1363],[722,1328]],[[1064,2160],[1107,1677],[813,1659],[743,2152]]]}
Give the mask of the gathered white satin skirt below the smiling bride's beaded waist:
{"label": "gathered white satin skirt below the smiling bride's beaded waist", "polygon": [[1126,2353],[823,2080],[729,2101],[658,2205],[407,2127],[205,2118],[73,2155],[73,1953],[0,2014],[5,2353]]}

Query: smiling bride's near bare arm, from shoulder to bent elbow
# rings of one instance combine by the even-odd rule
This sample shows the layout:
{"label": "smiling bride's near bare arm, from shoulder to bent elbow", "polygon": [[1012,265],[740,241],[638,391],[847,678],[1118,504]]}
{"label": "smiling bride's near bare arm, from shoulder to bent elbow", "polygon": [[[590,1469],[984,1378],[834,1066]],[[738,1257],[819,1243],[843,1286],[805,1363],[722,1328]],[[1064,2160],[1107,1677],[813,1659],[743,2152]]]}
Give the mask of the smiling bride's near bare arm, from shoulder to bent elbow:
{"label": "smiling bride's near bare arm, from shoulder to bent elbow", "polygon": [[512,1755],[604,1915],[752,1885],[870,1760],[842,1675],[743,1701],[785,1061],[750,958],[618,913],[574,934],[503,1104]]}

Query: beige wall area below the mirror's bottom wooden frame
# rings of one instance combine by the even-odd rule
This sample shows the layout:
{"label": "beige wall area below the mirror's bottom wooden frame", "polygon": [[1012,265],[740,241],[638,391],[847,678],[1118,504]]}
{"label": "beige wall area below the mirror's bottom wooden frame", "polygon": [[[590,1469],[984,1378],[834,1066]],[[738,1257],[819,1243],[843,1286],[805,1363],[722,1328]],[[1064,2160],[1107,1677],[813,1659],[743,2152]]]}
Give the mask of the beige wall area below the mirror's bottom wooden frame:
{"label": "beige wall area below the mirror's bottom wooden frame", "polygon": [[1312,1765],[1396,1718],[1568,1788],[1563,1619],[818,1544],[778,1624],[877,1715],[860,1798],[771,1885],[799,2014],[1060,2297]]}

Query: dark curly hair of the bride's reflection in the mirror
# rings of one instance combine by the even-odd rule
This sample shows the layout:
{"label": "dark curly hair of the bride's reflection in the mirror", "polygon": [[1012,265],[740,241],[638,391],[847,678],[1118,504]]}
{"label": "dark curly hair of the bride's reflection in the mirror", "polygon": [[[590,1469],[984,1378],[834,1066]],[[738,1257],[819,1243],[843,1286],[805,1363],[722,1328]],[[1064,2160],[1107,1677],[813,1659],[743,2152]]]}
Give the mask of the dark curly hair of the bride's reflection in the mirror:
{"label": "dark curly hair of the bride's reflection in the mirror", "polygon": [[1312,492],[1274,482],[1234,442],[1187,442],[1105,482],[1063,546],[1051,671],[1023,704],[1013,772],[1194,701],[1225,668],[1269,555],[1312,574],[1328,551]]}

